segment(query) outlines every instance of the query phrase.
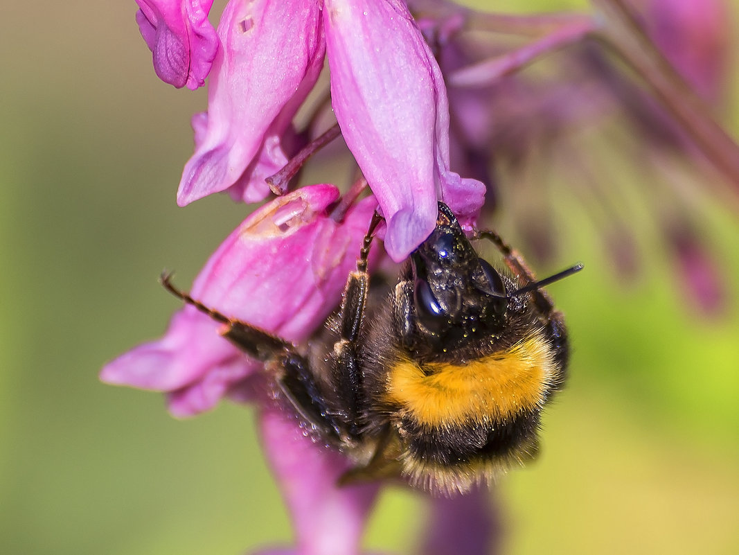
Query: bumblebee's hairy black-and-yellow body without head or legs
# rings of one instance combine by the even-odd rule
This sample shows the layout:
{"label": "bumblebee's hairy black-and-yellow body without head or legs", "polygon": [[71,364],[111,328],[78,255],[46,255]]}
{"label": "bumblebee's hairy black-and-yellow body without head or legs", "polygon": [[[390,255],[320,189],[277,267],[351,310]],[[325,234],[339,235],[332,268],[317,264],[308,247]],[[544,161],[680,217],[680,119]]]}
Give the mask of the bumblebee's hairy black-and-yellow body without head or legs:
{"label": "bumblebee's hairy black-and-yellow body without head or legs", "polygon": [[413,486],[447,494],[534,457],[540,413],[562,387],[567,355],[533,304],[511,302],[505,333],[470,331],[462,345],[442,341],[423,356],[393,324],[403,302],[389,304],[361,358],[367,436],[397,435],[385,464]]}

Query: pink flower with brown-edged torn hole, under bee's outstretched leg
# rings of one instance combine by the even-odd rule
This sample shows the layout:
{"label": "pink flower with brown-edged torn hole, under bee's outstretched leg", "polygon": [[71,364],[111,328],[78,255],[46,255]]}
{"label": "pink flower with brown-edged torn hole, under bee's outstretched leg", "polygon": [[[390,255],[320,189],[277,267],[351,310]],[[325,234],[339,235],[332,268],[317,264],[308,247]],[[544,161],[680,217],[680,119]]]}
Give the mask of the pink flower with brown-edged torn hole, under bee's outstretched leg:
{"label": "pink flower with brown-edged torn hole, under bee's outstretched leg", "polygon": [[[192,295],[222,313],[302,341],[339,302],[375,200],[367,198],[338,223],[327,213],[333,185],[304,187],[251,214],[211,256]],[[168,392],[169,409],[190,416],[223,395],[242,393],[260,364],[219,336],[220,325],[186,306],[165,336],[103,368],[111,384]]]}

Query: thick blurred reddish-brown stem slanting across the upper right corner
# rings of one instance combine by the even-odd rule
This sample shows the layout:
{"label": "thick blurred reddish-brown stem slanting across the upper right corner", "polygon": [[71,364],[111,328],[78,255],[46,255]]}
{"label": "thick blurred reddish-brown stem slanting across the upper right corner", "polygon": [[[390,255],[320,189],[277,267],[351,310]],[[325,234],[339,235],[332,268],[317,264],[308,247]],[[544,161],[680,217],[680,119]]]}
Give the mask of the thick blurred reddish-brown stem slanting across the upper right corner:
{"label": "thick blurred reddish-brown stem slanting across the upper right corner", "polygon": [[739,189],[739,146],[644,32],[624,0],[593,0],[602,26],[596,34],[630,65],[681,124],[695,146]]}

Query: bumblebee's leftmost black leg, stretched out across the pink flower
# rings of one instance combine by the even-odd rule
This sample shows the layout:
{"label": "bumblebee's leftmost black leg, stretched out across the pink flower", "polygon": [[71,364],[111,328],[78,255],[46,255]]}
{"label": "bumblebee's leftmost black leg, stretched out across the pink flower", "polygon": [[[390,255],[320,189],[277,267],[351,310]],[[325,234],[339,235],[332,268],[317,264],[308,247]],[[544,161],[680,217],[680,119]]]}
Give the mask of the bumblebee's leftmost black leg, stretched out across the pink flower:
{"label": "bumblebee's leftmost black leg, stretched out across the pink flower", "polygon": [[299,416],[325,437],[338,440],[341,435],[341,426],[324,404],[324,395],[313,373],[310,372],[309,364],[302,355],[297,353],[292,343],[206,307],[188,293],[175,287],[168,274],[163,274],[160,281],[174,296],[196,307],[197,310],[215,321],[225,324],[226,329],[222,336],[242,352],[267,363],[267,367],[276,376],[277,387]]}

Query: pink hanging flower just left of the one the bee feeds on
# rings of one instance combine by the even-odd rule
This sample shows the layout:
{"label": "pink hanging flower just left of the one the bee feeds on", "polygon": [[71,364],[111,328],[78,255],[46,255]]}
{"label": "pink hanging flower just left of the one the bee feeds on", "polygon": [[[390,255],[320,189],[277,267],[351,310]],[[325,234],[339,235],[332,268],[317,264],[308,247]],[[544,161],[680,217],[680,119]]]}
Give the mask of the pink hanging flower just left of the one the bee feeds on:
{"label": "pink hanging flower just left of the one the bee feeds on", "polygon": [[[254,168],[247,170],[258,154],[270,168],[287,160],[280,150],[282,135],[323,66],[316,0],[231,0],[218,35],[223,47],[213,64],[208,117],[183,171],[179,205],[239,180],[242,197],[262,200],[269,192],[265,171],[251,180]],[[258,190],[251,191],[252,184]]]}

